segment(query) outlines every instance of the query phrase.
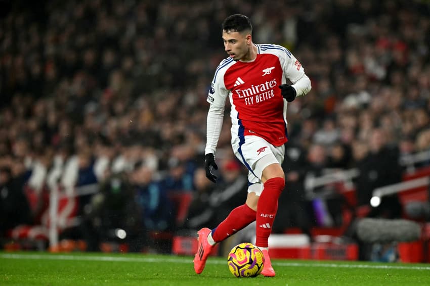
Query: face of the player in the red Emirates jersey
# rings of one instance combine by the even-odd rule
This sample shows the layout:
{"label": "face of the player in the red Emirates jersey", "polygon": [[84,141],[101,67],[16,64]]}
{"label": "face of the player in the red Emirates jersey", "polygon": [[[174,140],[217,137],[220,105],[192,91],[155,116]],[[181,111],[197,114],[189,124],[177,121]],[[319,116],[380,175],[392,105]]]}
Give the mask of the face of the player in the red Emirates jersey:
{"label": "face of the player in the red Emirates jersey", "polygon": [[251,35],[249,33],[223,30],[223,41],[225,51],[233,60],[246,59],[251,46]]}

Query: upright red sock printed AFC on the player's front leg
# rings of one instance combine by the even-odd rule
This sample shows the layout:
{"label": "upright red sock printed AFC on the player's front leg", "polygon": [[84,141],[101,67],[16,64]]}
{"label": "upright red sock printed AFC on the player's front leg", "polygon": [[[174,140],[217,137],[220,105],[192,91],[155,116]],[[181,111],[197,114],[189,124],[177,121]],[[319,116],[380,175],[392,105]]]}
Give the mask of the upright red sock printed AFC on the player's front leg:
{"label": "upright red sock printed AFC on the player's front leg", "polygon": [[285,180],[280,177],[269,179],[264,183],[264,189],[257,204],[255,239],[257,247],[269,247],[269,235],[278,211],[278,199],[284,186]]}

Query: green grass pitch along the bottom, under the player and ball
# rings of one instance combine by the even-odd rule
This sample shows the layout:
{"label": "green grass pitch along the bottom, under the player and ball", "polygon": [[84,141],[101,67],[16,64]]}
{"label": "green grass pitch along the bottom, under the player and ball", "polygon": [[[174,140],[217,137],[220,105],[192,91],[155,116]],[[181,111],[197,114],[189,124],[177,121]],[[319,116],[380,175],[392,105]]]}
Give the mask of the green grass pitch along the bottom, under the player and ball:
{"label": "green grass pitch along the bottom, under the player and ball", "polygon": [[147,254],[0,252],[0,285],[430,285],[430,265],[273,260],[275,277],[236,278],[227,259]]}

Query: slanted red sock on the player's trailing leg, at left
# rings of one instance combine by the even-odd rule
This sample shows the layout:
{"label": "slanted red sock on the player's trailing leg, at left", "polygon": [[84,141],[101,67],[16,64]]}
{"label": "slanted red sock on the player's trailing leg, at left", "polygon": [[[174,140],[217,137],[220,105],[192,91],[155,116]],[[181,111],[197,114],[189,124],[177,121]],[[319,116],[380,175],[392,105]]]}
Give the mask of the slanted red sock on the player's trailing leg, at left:
{"label": "slanted red sock on the player's trailing leg, at left", "polygon": [[212,229],[212,238],[216,242],[227,239],[228,236],[241,230],[255,220],[256,212],[243,204],[230,212],[216,228]]}

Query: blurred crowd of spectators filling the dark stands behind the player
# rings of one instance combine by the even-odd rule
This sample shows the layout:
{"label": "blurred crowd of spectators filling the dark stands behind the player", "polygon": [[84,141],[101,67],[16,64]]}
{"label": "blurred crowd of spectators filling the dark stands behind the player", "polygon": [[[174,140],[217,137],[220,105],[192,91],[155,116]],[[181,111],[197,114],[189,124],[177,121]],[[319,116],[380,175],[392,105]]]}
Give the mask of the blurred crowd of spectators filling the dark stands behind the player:
{"label": "blurred crowd of spectators filling the dark stands behind the player", "polygon": [[[3,236],[41,223],[54,184],[64,192],[100,186],[80,199],[81,233],[98,233],[107,221],[129,225],[135,237],[210,227],[243,202],[246,170],[231,151],[229,107],[217,151],[221,183],[202,170],[206,94],[226,58],[221,22],[234,13],[251,19],[254,42],[287,47],[312,80],[311,92],[288,105],[285,207],[274,231],[341,223],[311,215],[307,177],[357,168],[357,204],[368,205],[375,187],[400,181],[402,156],[430,149],[426,1],[0,6]],[[191,199],[177,199],[184,193]]]}

